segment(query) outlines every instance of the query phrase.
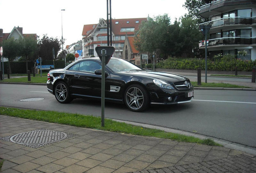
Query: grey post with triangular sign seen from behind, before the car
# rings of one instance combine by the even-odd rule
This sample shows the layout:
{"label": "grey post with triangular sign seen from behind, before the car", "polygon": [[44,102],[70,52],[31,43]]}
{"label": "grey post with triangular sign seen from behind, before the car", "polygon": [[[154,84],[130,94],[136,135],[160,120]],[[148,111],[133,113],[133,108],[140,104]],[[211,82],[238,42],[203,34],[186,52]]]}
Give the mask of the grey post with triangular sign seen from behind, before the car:
{"label": "grey post with triangular sign seen from behind, before the car", "polygon": [[101,127],[105,127],[105,65],[109,62],[115,51],[113,46],[97,46],[95,48],[101,63]]}

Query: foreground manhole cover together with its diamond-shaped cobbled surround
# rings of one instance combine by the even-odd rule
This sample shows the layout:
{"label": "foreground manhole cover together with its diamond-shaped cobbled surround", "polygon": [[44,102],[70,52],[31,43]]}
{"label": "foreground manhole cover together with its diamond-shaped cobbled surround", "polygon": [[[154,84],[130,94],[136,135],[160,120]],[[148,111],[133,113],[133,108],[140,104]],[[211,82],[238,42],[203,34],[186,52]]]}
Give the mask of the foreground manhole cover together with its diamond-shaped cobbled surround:
{"label": "foreground manhole cover together with its diamond-shaped cobbled surround", "polygon": [[64,133],[42,128],[35,131],[19,133],[17,135],[1,137],[0,139],[25,145],[27,147],[38,148],[75,136],[76,135],[72,133]]}

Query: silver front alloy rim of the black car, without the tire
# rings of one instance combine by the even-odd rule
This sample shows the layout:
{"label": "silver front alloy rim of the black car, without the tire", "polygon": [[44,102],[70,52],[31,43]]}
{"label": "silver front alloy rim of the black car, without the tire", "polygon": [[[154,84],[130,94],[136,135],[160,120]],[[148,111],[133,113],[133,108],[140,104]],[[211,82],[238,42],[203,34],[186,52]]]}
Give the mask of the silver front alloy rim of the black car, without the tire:
{"label": "silver front alloy rim of the black car, without the tire", "polygon": [[128,89],[126,92],[126,103],[130,109],[140,109],[144,103],[144,96],[142,91],[136,87]]}

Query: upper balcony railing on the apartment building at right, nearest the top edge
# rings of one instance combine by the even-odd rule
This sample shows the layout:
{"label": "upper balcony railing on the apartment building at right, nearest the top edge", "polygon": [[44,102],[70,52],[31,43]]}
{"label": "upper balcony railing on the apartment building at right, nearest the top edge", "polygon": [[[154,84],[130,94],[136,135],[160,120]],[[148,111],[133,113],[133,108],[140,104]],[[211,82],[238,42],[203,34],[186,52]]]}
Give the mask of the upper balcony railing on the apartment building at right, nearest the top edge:
{"label": "upper balcony railing on the apartment building at right, nearest the top edge", "polygon": [[255,24],[256,16],[250,18],[228,17],[201,23],[200,25],[211,25],[211,27],[233,24]]}

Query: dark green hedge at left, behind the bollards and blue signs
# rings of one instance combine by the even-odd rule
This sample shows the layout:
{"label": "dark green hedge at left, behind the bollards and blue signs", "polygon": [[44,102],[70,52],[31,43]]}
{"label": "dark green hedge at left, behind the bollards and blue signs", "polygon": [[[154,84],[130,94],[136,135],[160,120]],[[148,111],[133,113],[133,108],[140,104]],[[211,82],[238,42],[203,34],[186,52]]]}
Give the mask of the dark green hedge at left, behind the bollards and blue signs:
{"label": "dark green hedge at left, behind the bollards and blue signs", "polygon": [[[64,60],[56,60],[54,61],[55,68],[64,68],[65,61]],[[45,60],[42,62],[42,65],[53,65],[52,60]],[[10,62],[12,73],[27,73],[26,70],[26,61],[14,61]],[[28,61],[28,69],[31,70],[32,67],[35,66],[35,63],[32,61]],[[4,73],[7,73],[7,69],[9,68],[8,62],[4,62]],[[2,66],[1,66],[2,69]],[[44,71],[44,70],[43,70]],[[47,70],[45,70],[47,71]]]}

